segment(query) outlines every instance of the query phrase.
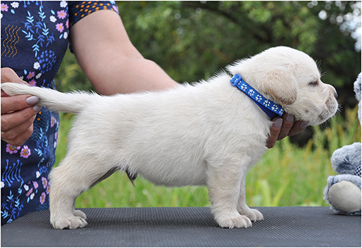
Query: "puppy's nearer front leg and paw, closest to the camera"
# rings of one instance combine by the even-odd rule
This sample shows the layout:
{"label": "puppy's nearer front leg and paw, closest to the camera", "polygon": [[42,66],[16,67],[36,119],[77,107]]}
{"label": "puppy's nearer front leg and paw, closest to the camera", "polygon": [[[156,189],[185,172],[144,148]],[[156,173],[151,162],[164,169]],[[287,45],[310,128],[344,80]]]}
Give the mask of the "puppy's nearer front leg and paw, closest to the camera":
{"label": "puppy's nearer front leg and paw, closest to the camera", "polygon": [[217,163],[208,167],[208,189],[211,211],[220,227],[251,227],[251,220],[237,211],[240,186],[250,159],[242,162]]}

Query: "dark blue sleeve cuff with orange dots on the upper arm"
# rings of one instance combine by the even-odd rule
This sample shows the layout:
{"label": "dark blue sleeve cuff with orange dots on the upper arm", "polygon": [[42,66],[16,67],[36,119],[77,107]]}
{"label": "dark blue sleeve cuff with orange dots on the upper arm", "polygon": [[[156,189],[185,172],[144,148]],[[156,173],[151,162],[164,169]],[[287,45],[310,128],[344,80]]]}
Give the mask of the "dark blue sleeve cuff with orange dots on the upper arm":
{"label": "dark blue sleeve cuff with orange dots on the upper arm", "polygon": [[115,1],[69,1],[69,28],[90,13],[108,9],[118,12]]}

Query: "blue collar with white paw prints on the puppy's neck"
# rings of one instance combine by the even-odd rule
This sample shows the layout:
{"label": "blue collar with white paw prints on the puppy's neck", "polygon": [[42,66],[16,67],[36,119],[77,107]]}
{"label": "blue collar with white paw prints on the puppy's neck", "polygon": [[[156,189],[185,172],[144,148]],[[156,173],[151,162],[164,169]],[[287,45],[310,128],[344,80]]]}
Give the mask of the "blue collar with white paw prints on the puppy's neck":
{"label": "blue collar with white paw prints on the puppy's neck", "polygon": [[258,91],[247,84],[239,74],[235,74],[234,77],[230,79],[230,83],[232,86],[236,86],[237,89],[247,94],[247,96],[249,96],[249,98],[251,98],[256,105],[269,116],[269,118],[273,119],[276,115],[283,115],[284,109],[282,106],[262,96]]}

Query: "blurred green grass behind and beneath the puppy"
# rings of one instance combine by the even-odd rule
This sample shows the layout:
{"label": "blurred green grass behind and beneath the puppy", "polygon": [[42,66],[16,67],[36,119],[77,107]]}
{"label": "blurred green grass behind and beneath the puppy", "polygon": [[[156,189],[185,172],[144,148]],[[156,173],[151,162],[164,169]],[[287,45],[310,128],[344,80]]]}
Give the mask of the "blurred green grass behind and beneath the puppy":
{"label": "blurred green grass behind and beneath the puppy", "polygon": [[[346,109],[345,117],[337,115],[329,125],[312,127],[313,137],[304,147],[285,138],[257,162],[247,175],[249,206],[321,206],[327,177],[334,175],[330,157],[334,150],[353,142],[361,142],[361,125],[357,106]],[[67,149],[67,133],[74,115],[60,113],[57,164]],[[132,186],[123,172],[84,192],[77,198],[76,208],[122,207],[192,207],[210,206],[205,186],[166,188],[154,186],[139,176]]]}

